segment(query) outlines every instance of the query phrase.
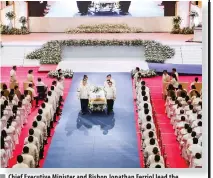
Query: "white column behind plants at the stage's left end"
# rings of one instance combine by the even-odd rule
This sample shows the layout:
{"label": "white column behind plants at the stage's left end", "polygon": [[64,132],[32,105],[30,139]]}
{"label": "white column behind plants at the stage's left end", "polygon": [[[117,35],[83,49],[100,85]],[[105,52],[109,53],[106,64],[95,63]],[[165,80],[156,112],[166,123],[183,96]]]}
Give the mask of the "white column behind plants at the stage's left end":
{"label": "white column behind plants at the stage's left end", "polygon": [[[15,19],[15,27],[21,28],[21,23],[19,22],[19,18],[21,16],[25,16],[27,18],[27,3],[24,1],[14,1],[15,2],[15,13],[16,13],[16,19]],[[26,24],[27,25],[27,24]]]}

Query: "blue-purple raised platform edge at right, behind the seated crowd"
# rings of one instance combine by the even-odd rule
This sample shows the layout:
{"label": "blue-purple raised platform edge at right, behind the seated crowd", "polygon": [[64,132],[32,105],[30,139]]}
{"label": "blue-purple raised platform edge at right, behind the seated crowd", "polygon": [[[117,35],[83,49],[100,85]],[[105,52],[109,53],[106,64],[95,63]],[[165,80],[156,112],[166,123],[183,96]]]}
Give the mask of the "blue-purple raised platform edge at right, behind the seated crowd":
{"label": "blue-purple raised platform edge at right, behind the seated crowd", "polygon": [[172,68],[176,68],[179,75],[202,75],[202,65],[148,63],[148,66],[158,74],[162,74],[163,70],[171,72]]}

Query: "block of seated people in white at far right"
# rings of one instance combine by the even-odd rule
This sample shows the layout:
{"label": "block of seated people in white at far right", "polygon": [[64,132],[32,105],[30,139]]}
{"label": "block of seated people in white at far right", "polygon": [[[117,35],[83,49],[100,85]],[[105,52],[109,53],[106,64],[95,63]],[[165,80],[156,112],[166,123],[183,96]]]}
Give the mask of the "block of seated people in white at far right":
{"label": "block of seated people in white at far right", "polygon": [[166,114],[173,125],[182,156],[190,167],[202,167],[202,96],[195,89],[189,96],[181,86],[178,88],[168,87]]}

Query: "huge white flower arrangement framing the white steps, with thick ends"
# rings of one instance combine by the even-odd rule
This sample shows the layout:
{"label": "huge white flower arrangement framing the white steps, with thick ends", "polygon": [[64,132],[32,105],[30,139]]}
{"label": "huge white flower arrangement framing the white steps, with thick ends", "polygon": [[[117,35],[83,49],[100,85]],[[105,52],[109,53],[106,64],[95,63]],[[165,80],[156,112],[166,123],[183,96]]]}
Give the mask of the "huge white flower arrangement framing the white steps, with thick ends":
{"label": "huge white flower arrangement framing the white steps, with thick ends", "polygon": [[173,48],[149,40],[54,40],[29,53],[26,58],[39,59],[41,64],[58,64],[63,46],[141,46],[145,48],[146,61],[155,63],[163,63],[175,55]]}

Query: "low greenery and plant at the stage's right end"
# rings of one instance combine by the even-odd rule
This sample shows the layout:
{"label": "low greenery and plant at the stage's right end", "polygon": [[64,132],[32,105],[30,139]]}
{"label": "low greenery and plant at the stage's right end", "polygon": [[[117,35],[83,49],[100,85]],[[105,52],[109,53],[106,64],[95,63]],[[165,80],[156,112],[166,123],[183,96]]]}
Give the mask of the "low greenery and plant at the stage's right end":
{"label": "low greenery and plant at the stage's right end", "polygon": [[172,19],[173,22],[173,28],[171,33],[172,34],[194,34],[194,27],[184,27],[183,29],[180,28],[180,24],[182,22],[182,19],[180,16],[174,17]]}

